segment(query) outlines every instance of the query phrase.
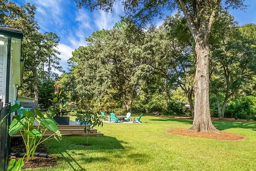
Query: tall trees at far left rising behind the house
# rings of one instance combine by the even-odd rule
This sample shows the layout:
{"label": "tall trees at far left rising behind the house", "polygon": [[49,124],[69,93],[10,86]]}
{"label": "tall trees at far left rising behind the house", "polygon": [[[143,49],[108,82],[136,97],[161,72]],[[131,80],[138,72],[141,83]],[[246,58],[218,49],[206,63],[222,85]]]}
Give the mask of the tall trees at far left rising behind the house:
{"label": "tall trees at far left rising behind the house", "polygon": [[21,29],[24,33],[21,57],[25,61],[23,85],[19,87],[19,95],[32,97],[43,109],[44,105],[47,108],[50,104],[50,92],[54,91],[54,80],[58,77],[53,71],[62,71],[57,48],[60,39],[54,32],[41,32],[35,20],[34,5],[17,5],[1,0],[0,9],[0,25]]}

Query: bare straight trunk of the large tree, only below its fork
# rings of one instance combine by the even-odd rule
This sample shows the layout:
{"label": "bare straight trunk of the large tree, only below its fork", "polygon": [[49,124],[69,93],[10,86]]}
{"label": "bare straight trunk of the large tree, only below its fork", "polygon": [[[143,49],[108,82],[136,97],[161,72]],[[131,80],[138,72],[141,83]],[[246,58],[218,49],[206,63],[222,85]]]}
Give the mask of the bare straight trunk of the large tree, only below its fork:
{"label": "bare straight trunk of the large tree, only below its fork", "polygon": [[[199,38],[198,38],[199,39]],[[197,40],[198,40],[197,39]],[[195,114],[189,131],[218,132],[211,120],[209,104],[209,43],[196,42],[196,75],[194,80]]]}

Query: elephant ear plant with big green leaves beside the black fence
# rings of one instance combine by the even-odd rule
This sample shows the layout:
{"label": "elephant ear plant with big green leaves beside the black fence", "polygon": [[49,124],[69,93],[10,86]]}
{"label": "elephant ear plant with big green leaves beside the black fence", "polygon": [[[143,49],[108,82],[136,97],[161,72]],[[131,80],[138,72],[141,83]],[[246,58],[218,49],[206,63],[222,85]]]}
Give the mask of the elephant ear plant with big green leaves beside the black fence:
{"label": "elephant ear plant with big green leaves beside the black fence", "polygon": [[[16,133],[21,134],[26,146],[26,154],[23,156],[22,160],[16,161],[15,159],[12,159],[8,170],[21,169],[24,165],[23,159],[25,157],[27,158],[27,161],[33,160],[37,146],[44,141],[50,139],[55,139],[57,141],[61,140],[61,134],[55,121],[51,117],[45,117],[38,109],[35,109],[35,113],[37,117],[35,117],[33,112],[23,110],[22,117],[18,115],[12,120],[9,128],[9,135],[14,135]],[[37,123],[37,125],[33,126],[35,123]],[[51,131],[52,133],[43,139],[46,131]]]}

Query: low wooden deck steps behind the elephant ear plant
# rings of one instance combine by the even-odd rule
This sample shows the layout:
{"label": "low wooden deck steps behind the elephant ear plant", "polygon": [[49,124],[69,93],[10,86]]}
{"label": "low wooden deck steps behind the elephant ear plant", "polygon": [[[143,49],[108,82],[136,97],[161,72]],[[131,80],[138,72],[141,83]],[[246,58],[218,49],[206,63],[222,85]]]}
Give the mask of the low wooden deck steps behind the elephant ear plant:
{"label": "low wooden deck steps behind the elephant ear plant", "polygon": [[[37,128],[37,126],[34,126]],[[41,126],[40,126],[41,127]],[[85,134],[84,127],[81,125],[58,125],[59,131],[62,136],[86,136],[87,132]],[[44,132],[44,128],[41,127],[41,131]],[[21,131],[23,133],[23,131]],[[44,136],[50,136],[52,135],[51,131],[46,131]],[[20,133],[14,134],[12,136],[21,136]],[[103,136],[102,133],[98,133],[97,129],[90,129],[89,136]]]}

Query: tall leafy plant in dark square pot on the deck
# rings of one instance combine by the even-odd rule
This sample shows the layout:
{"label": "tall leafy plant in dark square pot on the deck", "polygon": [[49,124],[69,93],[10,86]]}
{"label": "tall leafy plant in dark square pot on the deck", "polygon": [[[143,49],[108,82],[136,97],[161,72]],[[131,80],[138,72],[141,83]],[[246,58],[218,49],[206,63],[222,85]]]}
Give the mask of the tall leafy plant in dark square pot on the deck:
{"label": "tall leafy plant in dark square pot on the deck", "polygon": [[62,90],[59,91],[59,85],[54,84],[55,91],[52,93],[52,106],[50,107],[51,116],[59,125],[69,125],[69,117],[67,116],[68,102],[62,97]]}

